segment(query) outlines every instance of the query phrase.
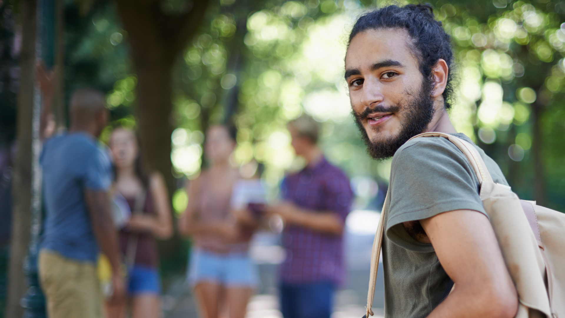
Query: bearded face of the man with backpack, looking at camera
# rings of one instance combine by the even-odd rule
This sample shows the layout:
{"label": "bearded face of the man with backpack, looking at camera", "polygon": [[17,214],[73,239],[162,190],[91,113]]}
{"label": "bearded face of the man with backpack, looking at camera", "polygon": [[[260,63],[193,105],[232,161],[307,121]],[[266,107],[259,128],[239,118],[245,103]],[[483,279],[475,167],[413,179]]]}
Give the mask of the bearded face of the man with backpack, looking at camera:
{"label": "bearded face of the man with backpack, looking at camera", "polygon": [[403,29],[368,30],[347,49],[351,108],[373,158],[392,157],[432,121],[432,85],[419,70]]}

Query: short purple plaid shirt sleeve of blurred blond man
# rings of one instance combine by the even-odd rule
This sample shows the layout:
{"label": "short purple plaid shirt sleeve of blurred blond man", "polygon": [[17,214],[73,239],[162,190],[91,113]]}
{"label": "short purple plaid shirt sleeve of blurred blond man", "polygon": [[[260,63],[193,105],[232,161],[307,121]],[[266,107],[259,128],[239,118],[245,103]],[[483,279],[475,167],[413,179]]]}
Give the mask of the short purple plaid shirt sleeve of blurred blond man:
{"label": "short purple plaid shirt sleeve of blurred blond man", "polygon": [[351,208],[353,192],[349,179],[341,171],[338,172],[331,174],[325,182],[325,209],[336,213],[338,218],[345,222]]}

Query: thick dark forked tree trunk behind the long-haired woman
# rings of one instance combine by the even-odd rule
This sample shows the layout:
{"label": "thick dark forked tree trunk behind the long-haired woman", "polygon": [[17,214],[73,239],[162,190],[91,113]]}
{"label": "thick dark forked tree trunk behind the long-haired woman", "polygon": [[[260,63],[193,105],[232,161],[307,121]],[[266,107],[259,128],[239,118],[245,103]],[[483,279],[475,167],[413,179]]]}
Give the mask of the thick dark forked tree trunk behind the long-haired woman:
{"label": "thick dark forked tree trunk behind the long-haired woman", "polygon": [[[163,14],[159,1],[115,2],[124,29],[128,31],[137,74],[137,119],[142,154],[149,169],[163,174],[170,198],[176,190],[171,163],[171,70],[176,56],[198,29],[208,0],[192,1],[190,10],[177,16]],[[173,256],[179,246],[180,239],[175,235],[167,243],[159,243],[159,253],[164,257]]]}

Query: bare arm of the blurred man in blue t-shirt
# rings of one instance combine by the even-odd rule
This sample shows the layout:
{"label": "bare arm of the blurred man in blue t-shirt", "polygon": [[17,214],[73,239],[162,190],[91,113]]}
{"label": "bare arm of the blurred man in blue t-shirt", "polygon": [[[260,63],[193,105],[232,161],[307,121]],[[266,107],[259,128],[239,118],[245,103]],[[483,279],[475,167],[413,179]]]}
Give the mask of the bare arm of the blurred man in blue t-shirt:
{"label": "bare arm of the blurred man in blue t-shirt", "polygon": [[114,222],[110,214],[110,203],[108,201],[108,194],[102,190],[89,190],[84,191],[84,199],[86,201],[86,208],[92,223],[92,230],[94,236],[100,246],[100,250],[110,261],[112,267],[112,283],[114,287],[114,298],[123,296],[124,281],[121,277],[121,257],[118,250],[118,234],[114,229]]}

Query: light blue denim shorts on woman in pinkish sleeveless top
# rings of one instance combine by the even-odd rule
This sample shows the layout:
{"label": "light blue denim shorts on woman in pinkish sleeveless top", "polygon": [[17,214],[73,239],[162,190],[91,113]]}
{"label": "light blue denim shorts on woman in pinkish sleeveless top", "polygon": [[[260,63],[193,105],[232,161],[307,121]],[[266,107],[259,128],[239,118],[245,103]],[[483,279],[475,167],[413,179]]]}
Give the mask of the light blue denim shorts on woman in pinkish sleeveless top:
{"label": "light blue denim shorts on woman in pinkish sleeveless top", "polygon": [[259,282],[257,268],[246,252],[219,254],[193,248],[188,281],[215,282],[226,287],[255,287]]}

